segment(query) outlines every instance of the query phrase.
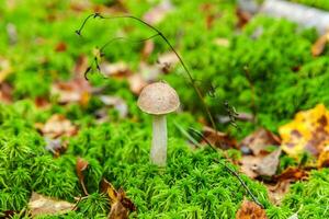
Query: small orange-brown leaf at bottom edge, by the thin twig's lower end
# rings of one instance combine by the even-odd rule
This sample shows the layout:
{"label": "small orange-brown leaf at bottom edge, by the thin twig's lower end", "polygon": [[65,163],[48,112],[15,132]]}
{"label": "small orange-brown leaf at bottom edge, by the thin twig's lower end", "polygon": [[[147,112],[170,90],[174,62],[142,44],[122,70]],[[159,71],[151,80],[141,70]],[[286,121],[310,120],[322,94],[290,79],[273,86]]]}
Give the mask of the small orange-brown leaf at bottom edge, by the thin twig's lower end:
{"label": "small orange-brown leaf at bottom edge, by the thin twig's lower end", "polygon": [[236,219],[266,219],[266,212],[256,203],[245,199],[237,211]]}

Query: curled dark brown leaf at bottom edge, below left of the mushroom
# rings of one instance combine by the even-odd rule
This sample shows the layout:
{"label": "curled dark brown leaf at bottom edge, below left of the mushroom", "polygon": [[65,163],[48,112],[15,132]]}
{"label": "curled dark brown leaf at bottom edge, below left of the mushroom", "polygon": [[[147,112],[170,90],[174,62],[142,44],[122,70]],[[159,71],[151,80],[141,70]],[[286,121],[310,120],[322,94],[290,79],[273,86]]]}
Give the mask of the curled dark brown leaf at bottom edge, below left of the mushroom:
{"label": "curled dark brown leaf at bottom edge, below left of the mushroom", "polygon": [[106,193],[111,200],[109,219],[127,219],[129,211],[136,210],[136,206],[129,198],[126,197],[125,192],[122,188],[116,191],[105,178],[101,182],[101,191]]}

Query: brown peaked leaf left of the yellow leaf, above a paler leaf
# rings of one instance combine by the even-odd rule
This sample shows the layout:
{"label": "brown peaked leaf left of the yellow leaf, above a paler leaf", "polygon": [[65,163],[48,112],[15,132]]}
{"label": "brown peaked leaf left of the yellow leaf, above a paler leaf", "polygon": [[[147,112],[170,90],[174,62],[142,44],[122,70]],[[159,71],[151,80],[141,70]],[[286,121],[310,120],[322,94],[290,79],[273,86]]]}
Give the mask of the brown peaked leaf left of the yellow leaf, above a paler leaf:
{"label": "brown peaked leaf left of the yellow leaf, above a paler leaf", "polygon": [[281,139],[271,131],[260,128],[256,132],[247,136],[241,142],[240,147],[249,147],[253,154],[258,155],[265,151],[269,146],[280,146]]}

